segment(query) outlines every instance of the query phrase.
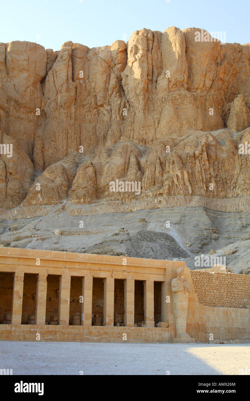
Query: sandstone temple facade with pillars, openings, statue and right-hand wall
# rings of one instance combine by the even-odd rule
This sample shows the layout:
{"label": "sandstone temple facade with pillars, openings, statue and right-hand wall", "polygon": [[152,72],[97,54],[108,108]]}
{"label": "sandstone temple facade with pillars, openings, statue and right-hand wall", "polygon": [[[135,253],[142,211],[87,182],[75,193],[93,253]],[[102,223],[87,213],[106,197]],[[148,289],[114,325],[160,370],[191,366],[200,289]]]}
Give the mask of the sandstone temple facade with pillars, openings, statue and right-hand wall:
{"label": "sandstone temple facade with pillars, openings, statue and right-hand wall", "polygon": [[250,338],[250,276],[190,271],[179,261],[0,247],[0,340],[236,338]]}

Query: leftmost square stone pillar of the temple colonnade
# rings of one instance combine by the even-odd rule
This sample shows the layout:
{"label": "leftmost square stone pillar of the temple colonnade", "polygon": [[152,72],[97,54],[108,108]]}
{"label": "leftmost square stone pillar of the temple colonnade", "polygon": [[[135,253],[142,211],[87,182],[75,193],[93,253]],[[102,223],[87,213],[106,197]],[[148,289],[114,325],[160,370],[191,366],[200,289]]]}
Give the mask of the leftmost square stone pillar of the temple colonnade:
{"label": "leftmost square stone pillar of the temple colonnade", "polygon": [[22,323],[22,294],[24,273],[16,271],[13,283],[11,324]]}

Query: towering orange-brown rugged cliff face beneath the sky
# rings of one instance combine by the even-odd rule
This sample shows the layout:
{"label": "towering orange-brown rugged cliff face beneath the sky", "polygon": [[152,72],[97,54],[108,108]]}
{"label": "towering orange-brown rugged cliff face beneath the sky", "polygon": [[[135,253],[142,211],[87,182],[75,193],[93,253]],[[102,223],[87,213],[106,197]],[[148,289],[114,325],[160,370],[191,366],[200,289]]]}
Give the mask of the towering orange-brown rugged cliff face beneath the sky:
{"label": "towering orange-brown rugged cliff face beneath the sky", "polygon": [[[140,208],[249,196],[238,146],[250,143],[250,44],[196,42],[197,30],[142,29],[127,44],[57,52],[1,43],[0,143],[13,145],[0,155],[1,207],[28,217],[66,199]],[[140,194],[110,192],[117,179],[141,182]]]}

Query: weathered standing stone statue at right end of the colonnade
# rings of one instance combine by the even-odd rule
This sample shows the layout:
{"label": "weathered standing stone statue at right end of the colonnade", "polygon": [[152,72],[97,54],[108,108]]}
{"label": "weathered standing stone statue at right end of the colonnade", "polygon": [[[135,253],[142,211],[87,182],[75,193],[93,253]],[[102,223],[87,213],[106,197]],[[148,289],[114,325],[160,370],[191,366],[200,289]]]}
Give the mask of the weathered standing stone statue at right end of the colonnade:
{"label": "weathered standing stone statue at right end of the colonnade", "polygon": [[186,333],[188,294],[191,292],[191,286],[188,280],[181,275],[183,270],[183,267],[180,267],[177,270],[177,278],[174,278],[171,282],[176,329],[174,342],[194,342],[194,338],[191,338]]}

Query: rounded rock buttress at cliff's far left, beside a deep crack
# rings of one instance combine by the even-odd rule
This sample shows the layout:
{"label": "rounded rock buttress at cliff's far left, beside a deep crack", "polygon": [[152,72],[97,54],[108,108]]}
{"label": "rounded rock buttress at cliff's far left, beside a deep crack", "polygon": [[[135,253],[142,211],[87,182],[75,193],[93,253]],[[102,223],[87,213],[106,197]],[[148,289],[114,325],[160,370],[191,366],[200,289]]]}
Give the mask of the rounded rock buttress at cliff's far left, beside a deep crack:
{"label": "rounded rock buttress at cliff's far left, beside a deep crack", "polygon": [[36,43],[14,41],[0,44],[0,60],[0,130],[16,139],[32,160],[41,125],[36,109],[43,104],[47,53]]}

